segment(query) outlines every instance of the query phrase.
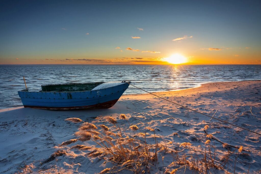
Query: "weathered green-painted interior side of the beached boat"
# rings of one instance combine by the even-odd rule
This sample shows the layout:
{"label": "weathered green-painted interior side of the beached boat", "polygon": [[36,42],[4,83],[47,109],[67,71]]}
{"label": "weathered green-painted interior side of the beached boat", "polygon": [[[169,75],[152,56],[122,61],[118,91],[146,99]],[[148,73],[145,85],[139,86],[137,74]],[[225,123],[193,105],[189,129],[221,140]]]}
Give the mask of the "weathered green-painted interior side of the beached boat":
{"label": "weathered green-painted interior side of the beached boat", "polygon": [[69,84],[50,84],[42,86],[43,92],[75,92],[75,91],[90,91],[96,86],[104,82],[94,83],[69,83]]}

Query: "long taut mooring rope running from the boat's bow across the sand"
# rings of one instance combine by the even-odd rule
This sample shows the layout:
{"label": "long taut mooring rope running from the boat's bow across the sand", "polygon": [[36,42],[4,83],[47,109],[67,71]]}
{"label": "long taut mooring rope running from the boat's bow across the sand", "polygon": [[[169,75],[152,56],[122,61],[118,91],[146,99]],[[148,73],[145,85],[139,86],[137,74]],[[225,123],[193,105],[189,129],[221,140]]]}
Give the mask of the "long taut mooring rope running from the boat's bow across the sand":
{"label": "long taut mooring rope running from the boat's bow across the sand", "polygon": [[[124,82],[126,82],[126,81],[124,81]],[[134,86],[134,85],[131,84],[130,82],[126,82],[126,83],[128,83],[129,85]],[[137,87],[137,86],[134,86],[134,87],[135,87],[135,88],[138,88],[138,89],[140,89],[140,90],[145,91],[144,89],[141,89],[141,88],[139,88],[139,87]],[[188,107],[186,107],[186,106],[180,105],[180,104],[178,104],[178,103],[176,103],[176,102],[167,100],[167,99],[165,99],[165,98],[163,98],[163,97],[160,97],[160,96],[158,96],[158,95],[152,94],[151,92],[148,92],[148,91],[145,91],[145,92],[147,92],[147,93],[149,93],[149,94],[151,94],[151,95],[154,95],[154,96],[156,96],[156,97],[162,98],[163,100],[166,100],[166,101],[168,101],[168,102],[174,103],[175,105],[181,106],[181,107],[183,107],[183,108],[186,108],[186,109],[189,109],[189,110],[191,110],[191,111],[197,112],[197,113],[202,114],[202,115],[205,115],[205,116],[207,116],[207,117],[210,117],[210,118],[212,118],[212,119],[216,119],[216,120],[221,121],[221,122],[223,122],[223,123],[227,123],[227,124],[230,124],[230,125],[232,125],[232,126],[239,127],[239,128],[241,128],[241,129],[244,129],[244,130],[246,130],[246,131],[253,132],[253,133],[255,133],[255,134],[261,135],[261,134],[259,134],[258,132],[255,132],[255,131],[246,129],[246,128],[241,127],[241,126],[237,126],[237,125],[235,125],[235,124],[229,123],[229,122],[227,122],[227,121],[224,121],[224,120],[221,120],[221,119],[218,119],[218,118],[215,118],[215,117],[211,117],[210,115],[207,115],[207,114],[204,114],[204,113],[202,113],[202,112],[196,111],[196,110],[194,110],[194,109],[188,108]]]}

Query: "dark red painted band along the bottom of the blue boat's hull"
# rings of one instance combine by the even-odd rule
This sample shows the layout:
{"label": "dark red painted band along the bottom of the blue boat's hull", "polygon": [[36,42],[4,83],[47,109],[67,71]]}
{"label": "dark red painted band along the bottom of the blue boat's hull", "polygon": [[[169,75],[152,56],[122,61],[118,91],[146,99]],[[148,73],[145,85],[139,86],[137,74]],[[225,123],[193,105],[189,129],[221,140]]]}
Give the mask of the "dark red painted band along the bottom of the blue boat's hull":
{"label": "dark red painted band along the bottom of the blue boat's hull", "polygon": [[23,106],[25,108],[35,108],[35,109],[56,109],[56,110],[64,110],[64,109],[108,109],[112,107],[119,99],[111,100],[104,103],[99,103],[96,105],[89,105],[89,106],[70,106],[70,107],[46,107],[46,106]]}

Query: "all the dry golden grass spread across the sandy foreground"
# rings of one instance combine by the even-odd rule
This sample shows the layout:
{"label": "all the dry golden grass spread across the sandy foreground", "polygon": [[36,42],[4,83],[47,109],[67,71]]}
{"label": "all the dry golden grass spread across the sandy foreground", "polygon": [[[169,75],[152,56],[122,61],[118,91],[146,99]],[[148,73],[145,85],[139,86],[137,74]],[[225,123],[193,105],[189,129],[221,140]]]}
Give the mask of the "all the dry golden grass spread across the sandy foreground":
{"label": "all the dry golden grass spread across the sandy foreground", "polygon": [[[124,114],[120,115],[120,119],[126,120]],[[77,118],[67,119],[75,123]],[[79,119],[80,120],[80,119]],[[79,121],[78,120],[78,121]],[[182,170],[186,172],[186,169],[192,170],[193,173],[210,173],[210,169],[226,171],[226,164],[228,159],[234,154],[228,150],[228,154],[224,156],[222,160],[217,160],[217,152],[213,135],[206,135],[206,140],[203,150],[195,149],[190,142],[183,142],[176,144],[177,150],[170,148],[173,146],[172,141],[164,141],[164,143],[158,143],[157,137],[153,128],[145,127],[145,130],[140,130],[138,126],[129,126],[129,129],[133,131],[133,136],[127,134],[126,131],[119,126],[116,126],[117,121],[112,117],[107,117],[106,120],[110,126],[110,129],[106,125],[99,125],[97,128],[91,123],[83,123],[79,127],[79,131],[75,132],[77,139],[72,139],[63,142],[61,145],[68,145],[74,143],[77,140],[80,141],[93,141],[94,146],[88,147],[77,144],[70,149],[78,149],[82,151],[90,151],[85,156],[89,158],[100,158],[106,162],[112,163],[111,168],[106,168],[100,173],[118,173],[124,171],[130,171],[133,173],[153,173],[152,169],[158,166],[158,160],[162,160],[163,173],[176,173]],[[127,120],[126,120],[127,121]],[[79,122],[78,122],[79,123]],[[209,129],[208,125],[204,126],[204,130]],[[135,132],[138,136],[135,135]],[[146,131],[152,131],[154,143],[147,142],[146,136],[149,135]],[[144,131],[144,132],[143,132]],[[227,144],[223,143],[223,147]],[[243,147],[238,148],[238,152],[241,153]],[[182,154],[181,154],[182,153]],[[158,158],[160,157],[161,158]],[[173,162],[171,164],[164,165],[165,156],[172,156]],[[237,155],[238,156],[238,155]],[[236,165],[236,159],[235,159]],[[158,169],[157,169],[158,170]],[[228,170],[228,169],[227,169]],[[155,172],[155,171],[154,171]],[[161,173],[161,172],[159,172]]]}

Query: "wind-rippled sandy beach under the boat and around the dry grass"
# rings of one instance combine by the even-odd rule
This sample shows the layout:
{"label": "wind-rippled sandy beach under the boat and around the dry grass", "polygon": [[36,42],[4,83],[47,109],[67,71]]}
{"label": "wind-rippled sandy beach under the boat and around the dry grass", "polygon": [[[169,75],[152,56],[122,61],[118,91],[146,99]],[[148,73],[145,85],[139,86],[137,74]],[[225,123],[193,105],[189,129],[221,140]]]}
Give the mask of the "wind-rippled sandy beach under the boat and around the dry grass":
{"label": "wind-rippled sandy beach under the boat and around the dry grass", "polygon": [[[187,107],[230,123],[261,133],[261,81],[217,82],[203,84],[198,88],[179,91],[156,92],[155,94],[179,102]],[[252,108],[252,109],[251,109]],[[251,113],[252,112],[252,113]],[[64,121],[77,117],[95,125],[106,124],[105,117],[112,116],[118,125],[130,136],[126,120],[119,120],[120,114],[126,114],[131,125],[137,125],[142,132],[145,124],[155,128],[157,141],[173,142],[170,149],[177,149],[180,143],[190,142],[192,148],[204,150],[206,134],[204,126],[209,125],[207,132],[220,141],[239,147],[243,152],[237,153],[232,147],[223,148],[222,143],[215,141],[216,160],[220,161],[228,152],[235,150],[229,158],[228,172],[236,173],[261,172],[261,137],[238,127],[222,124],[217,120],[194,113],[180,106],[175,106],[150,94],[123,95],[110,109],[49,111],[31,108],[12,108],[0,110],[0,173],[98,173],[111,164],[103,164],[103,159],[90,159],[83,152],[70,151],[58,156],[55,160],[44,163],[59,148],[54,148],[63,141],[74,138],[79,124]],[[151,139],[150,139],[151,138]],[[151,135],[148,141],[153,141]],[[213,140],[212,140],[212,145]],[[92,145],[91,142],[84,142]],[[68,145],[70,147],[70,145]],[[188,149],[182,150],[183,154]],[[172,162],[168,155],[155,164],[151,173],[163,173]],[[212,173],[227,172],[212,170]],[[184,168],[177,173],[184,173]],[[126,171],[125,171],[126,172]],[[192,173],[189,168],[186,173]],[[124,173],[124,172],[123,172]],[[195,173],[195,172],[194,172]],[[205,173],[205,172],[204,172]]]}

